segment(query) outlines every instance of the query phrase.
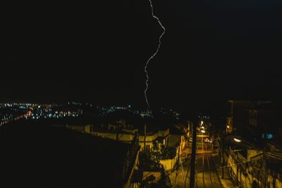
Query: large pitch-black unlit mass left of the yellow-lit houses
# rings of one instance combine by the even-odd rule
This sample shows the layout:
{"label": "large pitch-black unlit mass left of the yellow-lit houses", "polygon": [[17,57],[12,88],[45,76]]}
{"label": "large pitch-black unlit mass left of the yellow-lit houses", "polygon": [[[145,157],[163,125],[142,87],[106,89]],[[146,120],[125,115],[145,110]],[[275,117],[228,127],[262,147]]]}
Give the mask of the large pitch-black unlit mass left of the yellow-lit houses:
{"label": "large pitch-black unlit mass left of the yellow-lit houses", "polygon": [[0,187],[124,187],[139,146],[25,121],[1,127],[0,148]]}

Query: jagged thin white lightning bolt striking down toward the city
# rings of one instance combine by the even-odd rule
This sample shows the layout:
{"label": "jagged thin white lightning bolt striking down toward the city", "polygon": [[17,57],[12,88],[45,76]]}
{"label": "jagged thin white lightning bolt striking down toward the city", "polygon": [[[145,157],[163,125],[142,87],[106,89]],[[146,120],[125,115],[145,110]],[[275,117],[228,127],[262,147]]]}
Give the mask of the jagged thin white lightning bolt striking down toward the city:
{"label": "jagged thin white lightning bolt striking down toward the city", "polygon": [[146,89],[145,89],[145,91],[144,91],[144,94],[145,94],[145,99],[146,99],[147,105],[148,105],[148,107],[150,108],[149,102],[148,102],[148,98],[147,98],[147,90],[148,90],[148,86],[149,86],[149,85],[148,85],[149,75],[148,75],[148,72],[147,72],[147,65],[148,65],[149,62],[152,60],[152,58],[154,58],[154,56],[156,56],[156,55],[158,54],[159,48],[160,48],[160,46],[161,46],[161,37],[163,37],[164,33],[166,32],[166,28],[164,27],[164,25],[161,24],[161,21],[159,20],[159,18],[158,18],[156,15],[154,15],[154,8],[153,8],[152,0],[149,0],[149,4],[150,4],[150,6],[151,6],[152,17],[158,21],[159,25],[160,25],[161,28],[164,30],[164,32],[162,32],[161,35],[159,36],[159,45],[158,45],[157,51],[155,51],[154,54],[153,54],[151,57],[149,57],[149,59],[148,59],[146,65],[145,65],[145,68],[144,68],[145,73],[146,73],[146,77],[147,77],[147,80],[146,80]]}

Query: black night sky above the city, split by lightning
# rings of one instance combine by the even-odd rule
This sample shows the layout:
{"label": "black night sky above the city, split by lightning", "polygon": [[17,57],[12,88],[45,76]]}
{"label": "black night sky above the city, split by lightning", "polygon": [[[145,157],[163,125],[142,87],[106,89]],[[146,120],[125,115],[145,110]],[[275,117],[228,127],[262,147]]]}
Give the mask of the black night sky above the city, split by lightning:
{"label": "black night sky above the city, split by lightning", "polygon": [[[166,33],[147,68],[151,106],[281,96],[281,1],[153,5]],[[4,10],[1,101],[146,106],[144,66],[162,32],[149,1],[24,2]]]}

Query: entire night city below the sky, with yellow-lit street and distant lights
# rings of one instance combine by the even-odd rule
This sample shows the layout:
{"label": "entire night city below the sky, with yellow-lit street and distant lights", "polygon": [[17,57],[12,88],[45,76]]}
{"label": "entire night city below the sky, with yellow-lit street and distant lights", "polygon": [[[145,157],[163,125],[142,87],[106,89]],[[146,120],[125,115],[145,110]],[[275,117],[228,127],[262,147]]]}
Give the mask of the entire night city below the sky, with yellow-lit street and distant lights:
{"label": "entire night city below the sky, with yellow-lit street and distant lights", "polygon": [[130,105],[0,104],[1,185],[281,187],[281,104],[226,108],[188,118]]}

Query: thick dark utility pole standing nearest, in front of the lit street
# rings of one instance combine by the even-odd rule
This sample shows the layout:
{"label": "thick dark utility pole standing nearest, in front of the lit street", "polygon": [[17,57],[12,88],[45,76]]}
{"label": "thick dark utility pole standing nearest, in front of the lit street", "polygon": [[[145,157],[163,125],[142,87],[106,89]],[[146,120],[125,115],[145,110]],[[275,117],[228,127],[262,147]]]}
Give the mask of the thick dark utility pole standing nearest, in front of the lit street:
{"label": "thick dark utility pole standing nearest, in front of the lit street", "polygon": [[191,153],[191,170],[190,170],[190,188],[195,185],[195,159],[196,159],[196,141],[197,141],[197,120],[193,124],[193,141]]}

